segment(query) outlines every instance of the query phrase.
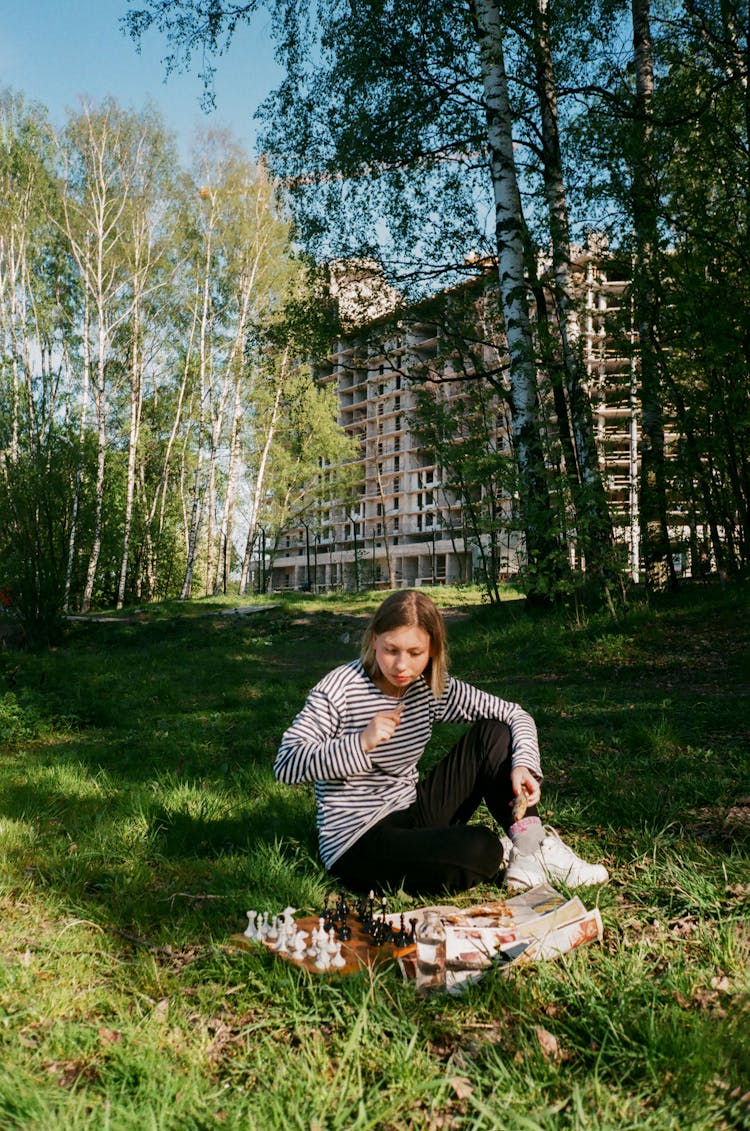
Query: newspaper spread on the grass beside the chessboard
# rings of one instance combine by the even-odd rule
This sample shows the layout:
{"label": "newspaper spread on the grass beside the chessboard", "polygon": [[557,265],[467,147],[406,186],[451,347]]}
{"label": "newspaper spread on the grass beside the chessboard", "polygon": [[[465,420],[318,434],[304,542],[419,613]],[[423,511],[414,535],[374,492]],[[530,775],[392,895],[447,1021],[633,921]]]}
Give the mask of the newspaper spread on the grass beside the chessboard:
{"label": "newspaper spread on the grass beside the chessboard", "polygon": [[[576,896],[566,899],[549,883],[518,896],[469,908],[437,905],[446,931],[446,990],[458,993],[490,968],[503,973],[523,962],[543,961],[603,935],[598,909],[587,910]],[[416,978],[416,955],[400,955],[398,962],[407,981]]]}

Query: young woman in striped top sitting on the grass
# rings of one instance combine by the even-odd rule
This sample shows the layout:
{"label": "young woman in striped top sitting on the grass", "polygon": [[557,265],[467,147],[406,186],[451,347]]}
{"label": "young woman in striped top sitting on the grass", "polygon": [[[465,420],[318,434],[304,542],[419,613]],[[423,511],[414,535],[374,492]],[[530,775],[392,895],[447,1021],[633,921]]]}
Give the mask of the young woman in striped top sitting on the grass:
{"label": "young woman in striped top sitting on the grass", "polygon": [[[419,780],[434,723],[471,723]],[[440,611],[419,590],[387,597],[360,659],[329,672],[284,734],[274,771],[313,782],[324,865],[353,891],[458,891],[493,880],[604,883],[537,815],[542,769],[533,718],[447,671]],[[514,798],[527,798],[512,823]],[[507,836],[467,821],[481,802]],[[499,878],[499,877],[498,877]]]}

